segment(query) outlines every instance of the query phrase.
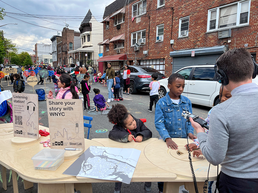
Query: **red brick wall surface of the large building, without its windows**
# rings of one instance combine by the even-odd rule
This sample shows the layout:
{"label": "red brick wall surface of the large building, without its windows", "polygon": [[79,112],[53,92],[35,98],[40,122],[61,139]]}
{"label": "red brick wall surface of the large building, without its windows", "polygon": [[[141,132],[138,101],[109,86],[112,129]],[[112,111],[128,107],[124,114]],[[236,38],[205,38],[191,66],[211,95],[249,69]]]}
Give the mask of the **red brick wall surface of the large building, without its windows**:
{"label": "red brick wall surface of the large building, without its windows", "polygon": [[[165,59],[164,74],[165,76],[169,76],[172,73],[171,63],[173,61],[169,56],[169,53],[173,51],[170,44],[171,39],[174,40],[173,48],[175,50],[219,46],[227,42],[225,44],[227,44],[229,49],[241,48],[244,47],[244,44],[248,43],[247,49],[250,52],[254,53],[258,51],[257,46],[249,48],[256,45],[258,1],[251,0],[249,25],[247,24],[244,27],[231,26],[231,37],[221,39],[218,38],[218,31],[207,32],[208,10],[237,1],[165,1],[165,5],[157,9],[157,1],[147,0],[147,13],[136,17],[132,21],[132,5],[136,2],[138,1],[133,1],[129,5],[126,5],[125,22],[120,24],[120,29],[114,26],[114,19],[110,19],[109,29],[106,29],[105,23],[103,24],[103,40],[111,39],[125,33],[124,48],[120,49],[120,54],[127,53],[127,63],[132,64],[135,56],[138,63],[140,60]],[[114,9],[114,12],[119,10],[119,8],[122,7],[117,7]],[[178,38],[179,19],[186,16],[189,16],[189,34],[187,37]],[[104,15],[104,17],[107,16]],[[163,23],[163,41],[156,42],[157,25]],[[131,33],[143,29],[146,29],[146,43],[141,45],[142,48],[140,48],[140,51],[134,51],[134,47],[131,47]],[[230,43],[228,43],[229,39],[231,40]],[[143,54],[143,50],[148,50],[148,55]],[[103,56],[116,54],[113,42],[109,43],[109,51],[106,51],[106,45],[103,46]],[[257,59],[258,56],[256,55]]]}

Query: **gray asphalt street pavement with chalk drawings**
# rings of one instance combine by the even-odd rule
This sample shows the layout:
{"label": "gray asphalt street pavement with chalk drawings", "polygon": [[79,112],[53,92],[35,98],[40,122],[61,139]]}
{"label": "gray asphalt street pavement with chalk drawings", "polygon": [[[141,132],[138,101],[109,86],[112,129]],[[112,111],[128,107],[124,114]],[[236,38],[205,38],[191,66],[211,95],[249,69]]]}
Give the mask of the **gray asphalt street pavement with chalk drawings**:
{"label": "gray asphalt street pavement with chalk drawings", "polygon": [[[3,80],[3,79],[2,79]],[[47,81],[49,83],[49,81]],[[9,83],[10,84],[10,83]],[[2,82],[2,86],[5,90],[11,90],[13,91],[12,86],[7,86],[7,82],[4,83]],[[93,98],[95,96],[93,92],[93,88],[98,88],[100,89],[100,93],[104,96],[104,98],[107,100],[108,99],[108,89],[107,87],[102,87],[100,83],[95,83],[91,85],[91,93],[89,93],[90,96],[90,102],[91,102],[91,107],[94,108],[94,103],[93,103]],[[44,85],[35,85],[34,89],[45,89]],[[46,84],[46,92],[48,94],[49,91],[54,92],[54,83],[52,84]],[[33,94],[33,88],[32,86],[26,85],[24,93],[31,93]],[[36,94],[36,92],[35,92]],[[83,95],[80,94],[80,97],[83,98]],[[112,101],[109,103],[109,105],[113,105],[116,103],[120,103],[125,105],[127,108],[128,112],[130,112],[134,117],[136,118],[145,118],[147,119],[147,122],[145,125],[152,131],[152,137],[154,138],[159,138],[158,131],[155,128],[154,125],[154,107],[152,112],[148,112],[149,108],[149,92],[145,91],[139,91],[137,94],[130,94],[130,95],[125,95],[124,94],[124,101]],[[38,101],[39,104],[39,125],[48,127],[48,117],[47,117],[47,107],[46,107],[46,101]],[[205,107],[205,106],[199,106],[199,105],[192,105],[192,110],[195,115],[199,115],[200,117],[206,118],[208,115],[208,111],[210,110],[210,107]],[[93,121],[91,122],[92,128],[90,129],[90,135],[89,139],[93,138],[108,138],[108,133],[112,129],[113,124],[111,124],[108,121],[107,115],[102,115],[101,112],[88,112],[88,111],[83,111],[83,115],[85,116],[90,116],[93,117]],[[58,121],[65,121],[65,120],[57,120]],[[3,122],[0,121],[0,124]],[[87,138],[87,133],[88,133],[88,128],[84,128],[84,133],[85,133],[85,138]],[[195,132],[196,133],[196,132]],[[162,157],[160,158],[162,159]],[[7,190],[5,191],[2,188],[2,167],[0,167],[0,193],[1,192],[6,192],[6,193],[11,193],[13,192],[12,188],[12,178],[11,178],[11,173],[10,170],[7,170]],[[110,192],[112,193],[114,191],[114,186],[115,183],[92,183],[92,189],[93,193],[95,192]],[[34,187],[29,188],[27,190],[24,190],[23,187],[23,182],[20,177],[18,177],[18,187],[19,187],[19,192],[20,193],[29,193],[29,192],[37,192],[37,183],[34,183]],[[158,187],[157,187],[157,182],[152,183],[152,192],[158,192]],[[121,192],[128,192],[128,193],[140,193],[144,192],[143,190],[143,183],[141,182],[132,182],[130,185],[124,184],[122,185]],[[53,192],[54,193],[54,192]]]}

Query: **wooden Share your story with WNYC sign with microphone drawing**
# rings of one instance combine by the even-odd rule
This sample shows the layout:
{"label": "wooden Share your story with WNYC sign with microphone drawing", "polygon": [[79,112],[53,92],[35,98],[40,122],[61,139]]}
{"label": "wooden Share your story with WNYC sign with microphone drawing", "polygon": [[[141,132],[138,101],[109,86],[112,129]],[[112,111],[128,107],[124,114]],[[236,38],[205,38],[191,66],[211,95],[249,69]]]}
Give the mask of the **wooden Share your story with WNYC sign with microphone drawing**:
{"label": "wooden Share your story with WNYC sign with microphone drawing", "polygon": [[47,99],[47,115],[51,149],[85,149],[81,99]]}

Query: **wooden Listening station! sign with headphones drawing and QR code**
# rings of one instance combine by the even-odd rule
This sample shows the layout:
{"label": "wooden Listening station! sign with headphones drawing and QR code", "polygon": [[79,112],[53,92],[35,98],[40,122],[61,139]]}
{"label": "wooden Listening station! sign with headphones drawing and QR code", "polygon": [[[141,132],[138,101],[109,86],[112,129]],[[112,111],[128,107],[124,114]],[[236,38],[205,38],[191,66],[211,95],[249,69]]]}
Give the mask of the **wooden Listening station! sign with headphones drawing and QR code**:
{"label": "wooden Listening station! sign with headphones drawing and QR code", "polygon": [[13,135],[38,139],[38,95],[12,93]]}

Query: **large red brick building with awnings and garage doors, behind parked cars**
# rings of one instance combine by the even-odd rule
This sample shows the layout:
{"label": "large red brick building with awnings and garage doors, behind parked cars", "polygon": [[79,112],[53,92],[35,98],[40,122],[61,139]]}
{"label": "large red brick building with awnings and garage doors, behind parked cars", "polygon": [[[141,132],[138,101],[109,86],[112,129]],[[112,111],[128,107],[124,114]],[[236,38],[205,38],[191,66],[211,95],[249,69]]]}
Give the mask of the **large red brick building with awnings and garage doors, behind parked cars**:
{"label": "large red brick building with awnings and garage doors, behind parked cars", "polygon": [[257,60],[257,6],[251,0],[117,0],[104,12],[104,57],[98,61],[114,60],[116,69],[150,66],[169,76],[184,66],[215,63],[233,48],[245,47]]}

